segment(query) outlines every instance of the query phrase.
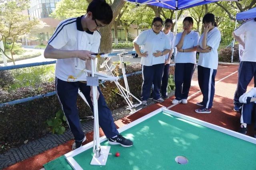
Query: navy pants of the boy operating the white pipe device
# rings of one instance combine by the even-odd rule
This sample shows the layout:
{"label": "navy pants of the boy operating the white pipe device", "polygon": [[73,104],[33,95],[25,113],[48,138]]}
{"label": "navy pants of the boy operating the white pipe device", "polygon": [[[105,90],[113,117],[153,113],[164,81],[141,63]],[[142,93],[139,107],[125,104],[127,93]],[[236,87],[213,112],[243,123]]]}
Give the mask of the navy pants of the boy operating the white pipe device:
{"label": "navy pants of the boy operating the white pipe device", "polygon": [[[60,105],[64,115],[67,118],[70,130],[74,135],[74,139],[76,141],[82,141],[84,139],[84,132],[80,123],[76,100],[79,88],[80,91],[84,94],[93,112],[93,105],[90,98],[90,86],[87,86],[87,84],[82,82],[66,82],[56,78],[55,88]],[[112,112],[108,108],[99,87],[98,91],[100,92],[98,99],[99,125],[107,138],[114,137],[119,133],[116,129],[116,125],[112,117]]]}

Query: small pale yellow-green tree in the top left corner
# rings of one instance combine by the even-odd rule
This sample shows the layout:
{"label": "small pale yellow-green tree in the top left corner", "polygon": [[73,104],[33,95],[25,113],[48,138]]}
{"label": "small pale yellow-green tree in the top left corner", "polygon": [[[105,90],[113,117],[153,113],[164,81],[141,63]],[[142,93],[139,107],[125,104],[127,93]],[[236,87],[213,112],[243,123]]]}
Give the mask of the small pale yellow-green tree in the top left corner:
{"label": "small pale yellow-green tree in the top left corner", "polygon": [[29,8],[29,0],[4,0],[0,2],[0,41],[3,41],[4,47],[7,42],[12,43],[10,49],[11,57],[6,55],[5,48],[1,49],[6,57],[13,61],[13,47],[16,40],[29,33],[32,29],[44,25],[39,20],[29,20],[29,16],[22,14],[23,10]]}

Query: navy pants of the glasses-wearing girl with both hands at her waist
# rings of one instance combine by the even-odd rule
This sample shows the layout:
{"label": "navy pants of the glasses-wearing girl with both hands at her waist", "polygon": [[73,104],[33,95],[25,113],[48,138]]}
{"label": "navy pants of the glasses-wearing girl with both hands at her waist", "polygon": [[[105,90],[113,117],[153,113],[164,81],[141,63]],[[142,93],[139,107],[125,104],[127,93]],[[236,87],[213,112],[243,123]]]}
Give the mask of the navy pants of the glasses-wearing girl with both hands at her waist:
{"label": "navy pants of the glasses-wearing girl with both hands at her waist", "polygon": [[164,63],[154,64],[152,66],[142,65],[142,101],[148,100],[150,96],[151,86],[153,84],[153,98],[155,100],[161,98],[160,88],[161,80],[164,72]]}

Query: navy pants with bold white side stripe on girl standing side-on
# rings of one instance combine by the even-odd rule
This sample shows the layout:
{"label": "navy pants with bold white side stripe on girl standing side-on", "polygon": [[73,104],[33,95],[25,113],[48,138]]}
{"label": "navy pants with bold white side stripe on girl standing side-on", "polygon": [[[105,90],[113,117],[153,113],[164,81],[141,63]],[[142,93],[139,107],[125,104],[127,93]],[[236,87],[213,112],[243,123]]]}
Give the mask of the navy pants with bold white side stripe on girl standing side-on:
{"label": "navy pants with bold white side stripe on girl standing side-on", "polygon": [[198,84],[203,94],[203,107],[212,108],[212,102],[215,93],[216,69],[198,66]]}

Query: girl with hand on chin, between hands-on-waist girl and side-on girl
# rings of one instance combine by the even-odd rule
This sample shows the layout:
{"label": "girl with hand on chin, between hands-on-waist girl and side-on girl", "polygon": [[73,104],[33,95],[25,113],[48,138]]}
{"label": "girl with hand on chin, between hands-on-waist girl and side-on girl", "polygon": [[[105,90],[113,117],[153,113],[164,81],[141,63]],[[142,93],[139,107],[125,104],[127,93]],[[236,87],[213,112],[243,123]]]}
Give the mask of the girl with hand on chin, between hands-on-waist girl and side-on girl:
{"label": "girl with hand on chin, between hands-on-waist girl and side-on girl", "polygon": [[184,18],[184,31],[176,35],[174,43],[177,47],[174,73],[176,89],[175,99],[172,104],[188,103],[188,92],[196,65],[196,47],[200,38],[198,32],[192,30],[193,23],[194,21],[191,17]]}

